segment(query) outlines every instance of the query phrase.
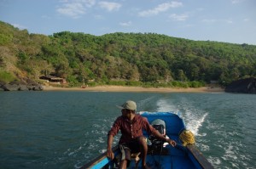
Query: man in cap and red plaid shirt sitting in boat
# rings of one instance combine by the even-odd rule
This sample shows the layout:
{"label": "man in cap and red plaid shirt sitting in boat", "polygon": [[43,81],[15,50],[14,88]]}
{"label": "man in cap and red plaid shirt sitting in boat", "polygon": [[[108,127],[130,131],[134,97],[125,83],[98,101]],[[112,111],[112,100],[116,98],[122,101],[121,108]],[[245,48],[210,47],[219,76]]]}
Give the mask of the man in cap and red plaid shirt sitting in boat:
{"label": "man in cap and red plaid shirt sitting in boat", "polygon": [[134,101],[128,100],[120,107],[122,115],[120,115],[114,122],[113,127],[108,132],[108,149],[107,156],[113,160],[114,155],[112,151],[113,137],[121,131],[122,135],[119,139],[119,149],[121,151],[121,161],[119,168],[126,168],[131,161],[131,154],[141,153],[143,168],[149,168],[146,165],[146,158],[148,152],[148,144],[146,138],[143,136],[143,130],[149,134],[154,135],[156,138],[176,146],[176,142],[170,138],[166,138],[154,127],[152,127],[147,118],[137,115],[137,104]]}

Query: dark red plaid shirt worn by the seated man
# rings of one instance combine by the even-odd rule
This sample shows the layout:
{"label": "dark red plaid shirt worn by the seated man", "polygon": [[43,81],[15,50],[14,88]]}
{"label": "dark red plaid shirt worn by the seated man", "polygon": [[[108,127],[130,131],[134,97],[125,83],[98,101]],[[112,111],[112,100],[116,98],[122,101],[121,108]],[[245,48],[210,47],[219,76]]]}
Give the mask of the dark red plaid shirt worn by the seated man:
{"label": "dark red plaid shirt worn by the seated man", "polygon": [[119,130],[122,136],[119,140],[119,144],[129,143],[134,138],[143,136],[143,130],[147,131],[148,134],[156,132],[154,127],[148,123],[148,119],[142,115],[135,115],[132,121],[129,121],[127,117],[119,116],[114,122],[113,127],[108,132],[108,135],[115,136]]}

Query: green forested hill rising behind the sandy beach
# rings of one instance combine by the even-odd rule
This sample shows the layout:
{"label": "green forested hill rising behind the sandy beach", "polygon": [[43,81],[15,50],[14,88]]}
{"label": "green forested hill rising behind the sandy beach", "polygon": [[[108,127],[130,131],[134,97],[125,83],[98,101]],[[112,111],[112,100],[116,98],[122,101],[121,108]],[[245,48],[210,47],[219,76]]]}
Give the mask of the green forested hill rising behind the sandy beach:
{"label": "green forested hill rising behind the sandy beach", "polygon": [[[234,35],[236,36],[236,35]],[[0,22],[0,81],[54,74],[81,82],[228,84],[256,76],[256,46],[154,33],[29,34]]]}

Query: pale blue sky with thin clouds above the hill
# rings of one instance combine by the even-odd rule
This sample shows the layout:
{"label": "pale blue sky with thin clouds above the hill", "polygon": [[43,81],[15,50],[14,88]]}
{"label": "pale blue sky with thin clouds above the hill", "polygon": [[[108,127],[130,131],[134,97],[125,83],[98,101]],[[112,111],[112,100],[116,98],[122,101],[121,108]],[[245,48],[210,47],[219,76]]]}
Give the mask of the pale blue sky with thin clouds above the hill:
{"label": "pale blue sky with thin clouds above the hill", "polygon": [[0,20],[44,35],[140,32],[256,45],[256,0],[0,0]]}

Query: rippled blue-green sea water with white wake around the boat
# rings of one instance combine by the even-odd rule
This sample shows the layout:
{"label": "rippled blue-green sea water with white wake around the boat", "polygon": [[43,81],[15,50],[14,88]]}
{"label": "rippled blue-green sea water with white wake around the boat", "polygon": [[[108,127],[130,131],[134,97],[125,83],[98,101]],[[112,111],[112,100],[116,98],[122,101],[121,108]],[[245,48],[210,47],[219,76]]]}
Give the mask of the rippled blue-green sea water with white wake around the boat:
{"label": "rippled blue-green sea water with white wake around the boat", "polygon": [[255,94],[1,92],[0,168],[83,166],[106,151],[127,99],[181,115],[214,168],[256,167]]}

